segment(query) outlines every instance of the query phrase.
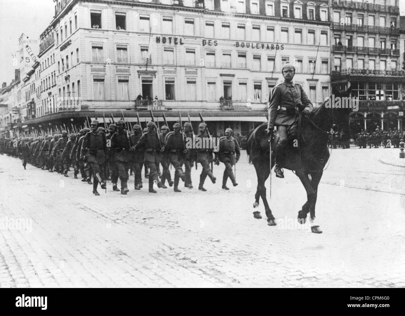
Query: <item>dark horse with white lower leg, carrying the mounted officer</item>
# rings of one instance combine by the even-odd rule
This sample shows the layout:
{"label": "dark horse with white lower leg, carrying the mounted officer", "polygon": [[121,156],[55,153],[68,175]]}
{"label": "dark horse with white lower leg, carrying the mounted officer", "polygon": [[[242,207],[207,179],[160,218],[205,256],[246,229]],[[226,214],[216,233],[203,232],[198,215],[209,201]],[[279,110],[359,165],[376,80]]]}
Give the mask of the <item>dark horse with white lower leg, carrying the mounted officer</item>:
{"label": "dark horse with white lower leg, carrying the mounted officer", "polygon": [[[335,100],[337,100],[336,97],[349,97],[350,91],[351,88],[347,91],[333,92],[332,96],[335,96]],[[305,223],[307,214],[309,213],[313,233],[322,233],[319,225],[315,224],[315,204],[318,184],[321,180],[324,166],[329,159],[328,131],[330,131],[333,124],[337,124],[340,127],[340,141],[349,139],[350,112],[350,108],[326,107],[324,102],[321,107],[313,110],[308,118],[303,116],[301,119],[301,133],[298,134],[300,136],[296,137],[296,139],[290,139],[289,137],[289,145],[283,155],[285,158],[281,161],[281,167],[295,171],[295,174],[300,178],[307,191],[307,202],[302,206],[302,210],[298,212],[298,222]],[[259,198],[261,196],[266,210],[267,222],[270,226],[274,226],[276,223],[266,199],[264,182],[269,177],[271,169],[275,164],[275,154],[273,151],[270,166],[270,143],[269,135],[265,131],[266,128],[267,123],[263,123],[249,133],[247,136],[247,155],[249,162],[253,163],[256,169],[258,180],[255,195],[256,201],[253,207],[259,206]],[[274,148],[274,143],[277,139],[276,135],[272,148]],[[298,147],[296,147],[297,140]],[[255,211],[253,214],[255,218],[262,218],[258,211]]]}

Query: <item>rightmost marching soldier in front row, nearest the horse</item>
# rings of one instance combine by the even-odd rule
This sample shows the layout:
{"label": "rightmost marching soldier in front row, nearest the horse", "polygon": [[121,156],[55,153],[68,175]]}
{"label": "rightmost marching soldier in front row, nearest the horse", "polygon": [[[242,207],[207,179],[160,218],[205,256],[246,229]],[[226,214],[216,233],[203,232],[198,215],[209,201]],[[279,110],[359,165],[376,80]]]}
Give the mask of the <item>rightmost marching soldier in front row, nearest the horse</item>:
{"label": "rightmost marching soldier in front row, nearest the horse", "polygon": [[241,150],[238,141],[232,137],[232,129],[226,129],[225,136],[220,138],[219,152],[215,153],[215,164],[219,165],[220,162],[222,162],[225,165],[224,175],[222,177],[222,189],[229,190],[226,186],[228,177],[231,179],[234,187],[238,185],[232,171],[232,166],[237,164],[240,156]]}

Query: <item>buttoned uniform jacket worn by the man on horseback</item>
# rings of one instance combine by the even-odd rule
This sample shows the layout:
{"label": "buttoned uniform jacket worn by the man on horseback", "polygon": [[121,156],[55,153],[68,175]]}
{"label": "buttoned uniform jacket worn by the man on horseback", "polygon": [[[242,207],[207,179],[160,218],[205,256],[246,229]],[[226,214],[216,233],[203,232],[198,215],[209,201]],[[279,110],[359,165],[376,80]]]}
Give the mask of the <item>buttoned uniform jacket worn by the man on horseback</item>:
{"label": "buttoned uniform jacket worn by the man on horseback", "polygon": [[[303,87],[297,83],[289,83],[284,80],[273,89],[273,94],[269,100],[269,129],[273,130],[274,126],[291,125],[294,123],[298,114],[295,107],[300,111],[312,111],[313,105],[309,101]],[[286,108],[277,110],[278,107]],[[305,108],[303,108],[305,106]]]}

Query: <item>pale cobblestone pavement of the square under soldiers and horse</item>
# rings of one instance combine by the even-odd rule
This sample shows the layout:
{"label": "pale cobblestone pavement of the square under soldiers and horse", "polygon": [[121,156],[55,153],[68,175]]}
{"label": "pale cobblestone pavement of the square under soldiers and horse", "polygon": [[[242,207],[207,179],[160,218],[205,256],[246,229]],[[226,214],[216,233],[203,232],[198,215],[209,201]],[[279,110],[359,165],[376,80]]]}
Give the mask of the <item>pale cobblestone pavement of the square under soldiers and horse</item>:
{"label": "pale cobblestone pavement of the square under soldiers and horse", "polygon": [[[0,229],[0,287],[405,287],[405,175],[381,162],[398,154],[333,150],[316,209],[323,234],[296,225],[306,194],[291,171],[273,173],[279,225],[266,224],[262,201],[264,218],[254,219],[245,152],[229,191],[221,164],[207,192],[196,189],[199,166],[194,189],[149,194],[144,179],[135,192],[131,177],[126,196],[111,182],[94,196],[72,172],[23,170],[0,156],[0,219],[9,224]],[[13,229],[20,218],[32,231]]]}

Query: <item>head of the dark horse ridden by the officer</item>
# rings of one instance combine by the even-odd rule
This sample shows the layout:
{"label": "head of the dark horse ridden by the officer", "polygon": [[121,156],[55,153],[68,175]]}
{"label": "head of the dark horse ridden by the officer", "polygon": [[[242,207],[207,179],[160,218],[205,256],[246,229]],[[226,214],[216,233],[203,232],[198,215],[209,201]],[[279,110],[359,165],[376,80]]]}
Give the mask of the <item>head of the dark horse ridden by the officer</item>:
{"label": "head of the dark horse ridden by the officer", "polygon": [[[332,119],[332,124],[336,124],[339,128],[339,141],[347,141],[350,139],[350,125],[349,115],[352,112],[352,99],[350,98],[350,92],[352,88],[349,87],[346,91],[333,91],[330,98],[335,98],[336,104],[340,101],[340,107],[328,108],[332,115],[329,116]],[[349,106],[350,104],[350,106]]]}

